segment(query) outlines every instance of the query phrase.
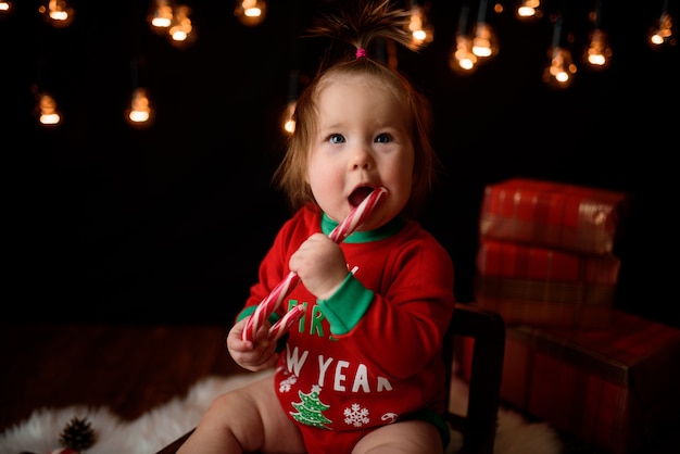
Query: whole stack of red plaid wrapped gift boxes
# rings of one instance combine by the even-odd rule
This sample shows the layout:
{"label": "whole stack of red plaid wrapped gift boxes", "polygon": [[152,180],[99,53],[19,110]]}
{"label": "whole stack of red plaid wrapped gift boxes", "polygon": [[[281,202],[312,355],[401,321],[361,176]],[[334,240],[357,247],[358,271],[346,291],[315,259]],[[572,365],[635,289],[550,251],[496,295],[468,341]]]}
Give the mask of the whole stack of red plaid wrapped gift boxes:
{"label": "whole stack of red plaid wrapped gift boxes", "polygon": [[[488,186],[475,282],[474,304],[506,323],[501,399],[612,454],[641,452],[680,418],[680,329],[614,307],[627,202],[522,178]],[[462,345],[469,379],[473,341]]]}

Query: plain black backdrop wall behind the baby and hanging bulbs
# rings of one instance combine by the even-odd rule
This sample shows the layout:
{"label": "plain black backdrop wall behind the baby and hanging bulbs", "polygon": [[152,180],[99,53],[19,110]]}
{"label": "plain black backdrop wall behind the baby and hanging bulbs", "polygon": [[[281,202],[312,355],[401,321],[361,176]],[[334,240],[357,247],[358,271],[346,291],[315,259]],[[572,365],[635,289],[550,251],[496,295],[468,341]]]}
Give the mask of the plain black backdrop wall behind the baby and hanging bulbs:
{"label": "plain black backdrop wall behind the baby and hanging bulbs", "polygon": [[[150,2],[71,3],[76,18],[64,29],[42,21],[37,1],[14,1],[0,20],[5,317],[225,323],[289,214],[270,185],[279,118],[290,72],[303,83],[325,46],[300,35],[344,2],[274,0],[263,24],[245,27],[231,2],[187,1],[198,30],[187,49],[149,29]],[[551,179],[629,193],[616,306],[680,326],[678,48],[645,42],[663,1],[604,1],[615,54],[603,73],[579,59],[589,2],[549,1],[536,24],[502,3],[505,12],[489,13],[501,52],[473,76],[448,66],[458,1],[433,0],[435,41],[399,50],[401,71],[435,108],[445,174],[421,222],[454,260],[457,299],[473,299],[483,187]],[[555,11],[579,66],[564,91],[541,81]],[[123,116],[133,62],[158,111],[146,130]],[[56,99],[58,128],[38,126],[35,84]]]}

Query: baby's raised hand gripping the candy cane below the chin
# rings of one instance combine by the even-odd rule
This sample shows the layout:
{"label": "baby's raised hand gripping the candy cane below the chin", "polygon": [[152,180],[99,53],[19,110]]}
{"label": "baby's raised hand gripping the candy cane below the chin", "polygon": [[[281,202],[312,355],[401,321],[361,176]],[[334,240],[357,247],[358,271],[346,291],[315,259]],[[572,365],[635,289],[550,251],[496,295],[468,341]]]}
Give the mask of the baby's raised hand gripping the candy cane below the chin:
{"label": "baby's raised hand gripping the candy cane below the chin", "polygon": [[288,266],[319,300],[330,298],[349,273],[342,249],[324,234],[307,238],[290,256]]}

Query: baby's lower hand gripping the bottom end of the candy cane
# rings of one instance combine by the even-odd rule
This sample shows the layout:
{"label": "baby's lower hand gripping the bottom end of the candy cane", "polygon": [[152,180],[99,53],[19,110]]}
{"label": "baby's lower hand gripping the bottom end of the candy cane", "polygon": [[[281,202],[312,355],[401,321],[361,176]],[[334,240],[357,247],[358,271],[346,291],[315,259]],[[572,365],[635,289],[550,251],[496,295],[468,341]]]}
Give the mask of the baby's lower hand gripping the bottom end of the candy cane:
{"label": "baby's lower hand gripping the bottom end of the candy cane", "polygon": [[238,321],[227,336],[227,350],[234,361],[241,367],[260,371],[276,364],[278,353],[276,353],[276,341],[269,340],[269,324],[265,323],[255,335],[254,342],[242,339],[245,320]]}

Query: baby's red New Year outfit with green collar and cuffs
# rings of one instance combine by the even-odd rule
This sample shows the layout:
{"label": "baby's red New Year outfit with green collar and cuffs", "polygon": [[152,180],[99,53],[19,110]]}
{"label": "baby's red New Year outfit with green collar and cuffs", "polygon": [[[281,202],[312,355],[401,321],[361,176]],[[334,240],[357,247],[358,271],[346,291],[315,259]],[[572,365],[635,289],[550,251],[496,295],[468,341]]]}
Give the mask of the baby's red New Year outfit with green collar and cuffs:
{"label": "baby's red New Year outfit with green collar and cuffs", "polygon": [[[239,318],[289,274],[290,255],[303,241],[336,225],[313,204],[295,213],[264,257]],[[289,330],[274,383],[314,453],[351,452],[377,426],[414,412],[441,414],[445,405],[441,345],[454,308],[448,252],[417,222],[402,218],[355,231],[340,247],[351,272],[340,289],[317,300],[301,283],[277,311],[280,317],[306,307]]]}

